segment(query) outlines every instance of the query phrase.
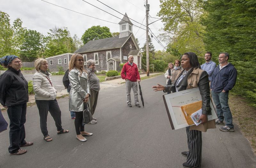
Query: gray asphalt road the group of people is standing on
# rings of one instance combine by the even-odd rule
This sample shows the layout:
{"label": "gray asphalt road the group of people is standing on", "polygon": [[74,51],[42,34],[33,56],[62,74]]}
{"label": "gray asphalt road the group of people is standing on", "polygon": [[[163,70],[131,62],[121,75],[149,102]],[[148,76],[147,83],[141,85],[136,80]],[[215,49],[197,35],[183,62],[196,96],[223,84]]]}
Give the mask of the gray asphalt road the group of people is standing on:
{"label": "gray asphalt road the group of people is standing on", "polygon": [[[151,89],[156,83],[164,84],[163,76],[141,81],[145,108],[135,107],[134,103],[132,108],[126,105],[125,85],[100,91],[95,111],[98,123],[85,126],[85,131],[93,133],[86,137],[86,142],[75,139],[68,98],[58,102],[62,126],[70,132],[57,135],[53,119],[48,115],[51,142],[43,140],[37,107],[29,107],[26,140],[34,145],[22,147],[28,149],[24,155],[10,155],[9,132],[0,133],[0,167],[182,167],[186,157],[180,152],[187,150],[186,130],[171,129],[162,98],[164,93]],[[3,115],[8,120],[5,112]],[[235,132],[211,129],[202,135],[202,168],[256,167],[256,156],[238,126],[235,125]]]}

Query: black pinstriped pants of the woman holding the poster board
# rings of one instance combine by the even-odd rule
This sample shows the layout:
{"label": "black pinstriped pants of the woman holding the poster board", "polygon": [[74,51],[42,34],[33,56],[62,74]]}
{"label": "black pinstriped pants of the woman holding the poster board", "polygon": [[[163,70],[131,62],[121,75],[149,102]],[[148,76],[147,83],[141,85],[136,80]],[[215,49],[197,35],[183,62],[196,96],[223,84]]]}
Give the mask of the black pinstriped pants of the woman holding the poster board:
{"label": "black pinstriped pants of the woman holding the poster board", "polygon": [[189,130],[190,126],[186,127],[188,136],[188,157],[187,163],[190,166],[201,166],[202,160],[202,132],[198,130]]}

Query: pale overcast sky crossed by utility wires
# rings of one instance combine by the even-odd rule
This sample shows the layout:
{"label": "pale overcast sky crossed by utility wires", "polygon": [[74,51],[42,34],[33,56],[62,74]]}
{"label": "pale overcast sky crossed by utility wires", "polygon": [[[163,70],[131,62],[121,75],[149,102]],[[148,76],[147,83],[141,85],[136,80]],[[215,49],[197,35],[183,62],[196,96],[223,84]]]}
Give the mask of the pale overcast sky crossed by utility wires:
{"label": "pale overcast sky crossed by utility wires", "polygon": [[[110,22],[118,23],[123,15],[117,13],[116,11],[124,14],[127,13],[128,17],[142,23],[145,18],[145,7],[144,0],[100,0],[102,3],[107,4],[116,11],[108,8],[104,4],[101,4],[97,0],[84,0],[93,4],[100,9],[108,11],[109,13],[117,16],[118,19],[96,7],[87,4],[83,0],[45,0],[52,4],[68,8],[73,11],[77,11],[95,18],[107,20]],[[94,19],[88,16],[84,16],[67,9],[48,4],[41,0],[1,0],[0,10],[9,14],[11,23],[14,19],[20,18],[23,22],[23,27],[27,27],[31,30],[36,30],[44,35],[47,35],[49,29],[53,27],[68,27],[71,36],[76,34],[79,38],[82,37],[84,31],[92,26],[107,26],[110,28],[110,32],[119,32],[119,25],[114,23],[109,23],[106,21]],[[160,2],[158,0],[148,0],[150,4],[149,14],[151,17],[156,17],[158,11],[160,10]],[[139,26],[139,23],[132,21],[133,25]],[[157,19],[149,18],[148,23],[151,23]],[[146,25],[146,19],[143,21],[143,25]],[[163,27],[161,20],[149,25],[149,28],[157,36],[160,32],[160,28]],[[141,28],[146,29],[144,26]],[[138,31],[138,32],[137,32]],[[133,26],[133,34],[139,39],[140,47],[146,42],[146,30],[139,29]],[[160,40],[160,39],[159,39]],[[166,44],[162,42],[164,46]],[[153,39],[153,44],[156,50],[163,50],[155,39]]]}

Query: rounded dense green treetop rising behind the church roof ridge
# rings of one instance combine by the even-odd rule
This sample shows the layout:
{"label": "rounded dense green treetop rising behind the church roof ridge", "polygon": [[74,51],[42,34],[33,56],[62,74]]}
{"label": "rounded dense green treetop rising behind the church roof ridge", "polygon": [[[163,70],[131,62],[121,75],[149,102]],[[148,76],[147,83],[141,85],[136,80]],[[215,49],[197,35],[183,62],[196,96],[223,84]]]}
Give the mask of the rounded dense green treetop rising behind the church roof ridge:
{"label": "rounded dense green treetop rising behind the church roof ridge", "polygon": [[86,44],[91,40],[104,39],[108,37],[112,37],[112,34],[109,28],[106,26],[100,27],[100,25],[98,25],[98,26],[92,26],[88,28],[82,35],[81,40],[83,41],[84,44]]}

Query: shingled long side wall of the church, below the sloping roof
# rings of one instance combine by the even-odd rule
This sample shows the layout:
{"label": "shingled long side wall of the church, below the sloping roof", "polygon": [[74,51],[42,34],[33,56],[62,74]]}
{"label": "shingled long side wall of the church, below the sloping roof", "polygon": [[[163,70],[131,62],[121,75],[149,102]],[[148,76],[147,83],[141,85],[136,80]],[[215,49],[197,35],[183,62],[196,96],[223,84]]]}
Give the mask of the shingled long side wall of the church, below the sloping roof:
{"label": "shingled long side wall of the church, below the sloping roof", "polygon": [[[96,71],[107,71],[107,51],[111,51],[111,57],[112,58],[120,59],[120,49],[102,50],[102,51],[96,51],[96,52],[87,52],[87,53],[82,53],[81,55],[87,54],[87,60],[89,60],[89,59],[94,59],[94,53],[98,53],[98,55],[99,55],[99,65],[95,65],[95,70]],[[87,69],[87,66],[85,66],[84,68]]]}

